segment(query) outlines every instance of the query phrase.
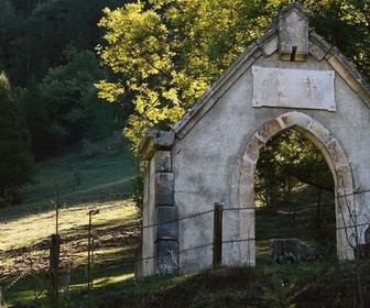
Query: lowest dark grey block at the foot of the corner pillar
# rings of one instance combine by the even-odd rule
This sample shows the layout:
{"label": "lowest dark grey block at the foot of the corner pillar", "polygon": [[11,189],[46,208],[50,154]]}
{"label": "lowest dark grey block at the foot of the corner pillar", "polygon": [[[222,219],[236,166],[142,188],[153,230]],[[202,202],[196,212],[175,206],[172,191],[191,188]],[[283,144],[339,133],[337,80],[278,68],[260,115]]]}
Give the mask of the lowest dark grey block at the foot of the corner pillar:
{"label": "lowest dark grey block at the foot of the corner pillar", "polygon": [[178,243],[177,241],[159,240],[157,271],[161,275],[178,272]]}

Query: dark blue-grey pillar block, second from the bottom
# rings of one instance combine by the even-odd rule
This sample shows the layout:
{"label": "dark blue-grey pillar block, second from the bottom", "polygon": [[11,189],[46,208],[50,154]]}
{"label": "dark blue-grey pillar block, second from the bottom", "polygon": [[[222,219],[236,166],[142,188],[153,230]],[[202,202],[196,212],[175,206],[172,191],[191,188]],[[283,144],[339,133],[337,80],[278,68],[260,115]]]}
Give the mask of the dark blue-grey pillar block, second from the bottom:
{"label": "dark blue-grey pillar block, second from the bottom", "polygon": [[156,208],[157,239],[177,240],[178,238],[178,209],[173,206],[159,206]]}

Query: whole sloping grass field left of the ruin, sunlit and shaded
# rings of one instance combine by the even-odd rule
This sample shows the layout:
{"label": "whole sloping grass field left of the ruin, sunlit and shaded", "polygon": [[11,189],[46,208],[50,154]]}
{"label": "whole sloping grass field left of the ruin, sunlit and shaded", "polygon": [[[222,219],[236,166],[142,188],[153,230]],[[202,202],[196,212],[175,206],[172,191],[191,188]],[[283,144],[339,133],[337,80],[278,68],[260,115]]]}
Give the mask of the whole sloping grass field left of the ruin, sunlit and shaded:
{"label": "whole sloping grass field left of the ruin, sunlit and shaded", "polygon": [[131,198],[134,176],[135,161],[120,136],[40,163],[35,183],[22,191],[22,205],[0,209],[2,304],[41,305],[56,231],[62,238],[61,288],[75,295],[74,302],[85,300],[90,210],[99,210],[91,216],[95,289],[132,279],[140,238]]}

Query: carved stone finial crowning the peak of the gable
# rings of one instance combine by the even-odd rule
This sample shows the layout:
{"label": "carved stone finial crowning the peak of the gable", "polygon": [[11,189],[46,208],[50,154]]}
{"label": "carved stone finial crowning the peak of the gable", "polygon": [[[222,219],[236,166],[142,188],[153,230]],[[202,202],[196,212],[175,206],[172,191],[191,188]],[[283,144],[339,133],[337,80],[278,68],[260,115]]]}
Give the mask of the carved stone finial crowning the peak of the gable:
{"label": "carved stone finial crowning the peak of the gable", "polygon": [[305,61],[308,54],[308,19],[311,12],[294,2],[279,14],[279,58]]}

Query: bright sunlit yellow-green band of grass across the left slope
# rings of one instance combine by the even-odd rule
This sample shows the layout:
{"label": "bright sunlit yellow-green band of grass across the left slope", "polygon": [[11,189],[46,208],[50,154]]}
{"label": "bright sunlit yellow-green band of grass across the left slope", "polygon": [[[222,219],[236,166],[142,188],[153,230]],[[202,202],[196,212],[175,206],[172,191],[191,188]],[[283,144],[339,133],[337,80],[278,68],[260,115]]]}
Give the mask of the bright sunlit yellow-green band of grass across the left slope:
{"label": "bright sunlit yellow-green band of grass across the left slope", "polygon": [[[62,267],[68,263],[73,266],[86,264],[88,211],[91,208],[100,209],[100,213],[94,216],[91,221],[95,262],[120,263],[123,258],[133,257],[137,234],[132,227],[138,220],[137,209],[130,201],[109,201],[59,210]],[[55,233],[55,212],[0,224],[0,267],[3,272],[19,275],[31,272],[32,266],[34,270],[44,268],[48,264],[51,234]],[[18,268],[17,272],[14,268]]]}

